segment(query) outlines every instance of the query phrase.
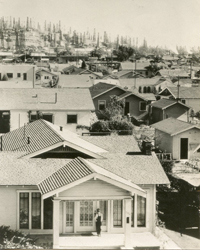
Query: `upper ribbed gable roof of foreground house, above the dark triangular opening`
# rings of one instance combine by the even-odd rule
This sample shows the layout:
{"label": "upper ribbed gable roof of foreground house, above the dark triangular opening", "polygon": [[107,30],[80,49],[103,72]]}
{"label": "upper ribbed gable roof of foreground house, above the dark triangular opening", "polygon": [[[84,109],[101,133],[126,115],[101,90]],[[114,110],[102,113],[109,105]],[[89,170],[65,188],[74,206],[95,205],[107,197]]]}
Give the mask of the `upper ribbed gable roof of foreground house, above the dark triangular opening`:
{"label": "upper ribbed gable roof of foreground house, above the dark triangular opening", "polygon": [[[2,151],[21,151],[23,157],[33,157],[60,146],[69,146],[88,155],[96,156],[106,150],[95,147],[77,134],[45,120],[36,120],[1,137]],[[28,141],[29,140],[29,141]]]}

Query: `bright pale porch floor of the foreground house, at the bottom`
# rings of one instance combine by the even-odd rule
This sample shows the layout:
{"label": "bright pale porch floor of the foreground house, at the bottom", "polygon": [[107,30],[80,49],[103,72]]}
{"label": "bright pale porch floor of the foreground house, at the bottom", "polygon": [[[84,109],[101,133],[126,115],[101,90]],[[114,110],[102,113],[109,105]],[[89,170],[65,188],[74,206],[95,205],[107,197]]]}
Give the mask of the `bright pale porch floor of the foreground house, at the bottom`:
{"label": "bright pale porch floor of the foreground house, at the bottom", "polygon": [[[159,247],[161,244],[151,233],[132,233],[132,247]],[[101,237],[96,234],[91,236],[60,236],[61,249],[120,249],[124,246],[124,234],[102,233]]]}

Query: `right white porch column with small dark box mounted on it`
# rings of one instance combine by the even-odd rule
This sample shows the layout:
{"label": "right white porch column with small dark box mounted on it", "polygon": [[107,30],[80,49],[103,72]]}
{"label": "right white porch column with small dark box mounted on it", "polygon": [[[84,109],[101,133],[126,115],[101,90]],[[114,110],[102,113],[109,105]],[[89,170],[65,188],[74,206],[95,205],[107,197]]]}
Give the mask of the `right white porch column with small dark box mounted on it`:
{"label": "right white porch column with small dark box mounted on it", "polygon": [[124,199],[125,225],[124,225],[124,247],[133,248],[131,245],[131,198]]}

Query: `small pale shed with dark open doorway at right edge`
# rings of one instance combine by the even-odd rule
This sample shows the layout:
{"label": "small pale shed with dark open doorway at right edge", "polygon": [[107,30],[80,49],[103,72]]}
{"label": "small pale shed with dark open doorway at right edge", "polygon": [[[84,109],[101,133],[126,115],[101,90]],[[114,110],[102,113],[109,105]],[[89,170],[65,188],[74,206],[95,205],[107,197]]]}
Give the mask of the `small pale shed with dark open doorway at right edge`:
{"label": "small pale shed with dark open doorway at right edge", "polygon": [[199,157],[199,126],[172,117],[151,126],[155,128],[155,146],[171,153],[172,159],[188,160],[194,154]]}

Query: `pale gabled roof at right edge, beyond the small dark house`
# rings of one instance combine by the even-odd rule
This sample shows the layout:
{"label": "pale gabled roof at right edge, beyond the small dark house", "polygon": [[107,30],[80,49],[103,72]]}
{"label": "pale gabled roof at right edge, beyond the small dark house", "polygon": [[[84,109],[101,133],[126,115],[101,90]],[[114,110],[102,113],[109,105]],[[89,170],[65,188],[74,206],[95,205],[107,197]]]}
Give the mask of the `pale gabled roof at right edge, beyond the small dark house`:
{"label": "pale gabled roof at right edge, beyond the small dark house", "polygon": [[200,87],[180,87],[179,90],[177,87],[166,87],[164,88],[159,95],[168,93],[174,98],[183,98],[183,99],[199,99],[200,98]]}

